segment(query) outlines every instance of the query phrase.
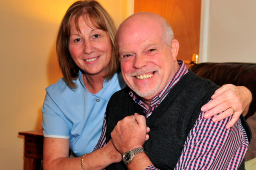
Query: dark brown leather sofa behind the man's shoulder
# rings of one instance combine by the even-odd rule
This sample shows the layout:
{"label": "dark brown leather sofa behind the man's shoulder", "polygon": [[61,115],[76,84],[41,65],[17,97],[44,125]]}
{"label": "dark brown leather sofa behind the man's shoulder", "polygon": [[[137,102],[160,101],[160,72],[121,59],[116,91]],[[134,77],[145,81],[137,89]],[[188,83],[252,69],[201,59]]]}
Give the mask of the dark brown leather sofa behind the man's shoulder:
{"label": "dark brown leather sofa behind the man's shoulder", "polygon": [[245,86],[252,92],[252,103],[245,119],[252,131],[245,160],[256,157],[256,63],[199,63],[189,68],[196,75],[210,79],[219,86]]}

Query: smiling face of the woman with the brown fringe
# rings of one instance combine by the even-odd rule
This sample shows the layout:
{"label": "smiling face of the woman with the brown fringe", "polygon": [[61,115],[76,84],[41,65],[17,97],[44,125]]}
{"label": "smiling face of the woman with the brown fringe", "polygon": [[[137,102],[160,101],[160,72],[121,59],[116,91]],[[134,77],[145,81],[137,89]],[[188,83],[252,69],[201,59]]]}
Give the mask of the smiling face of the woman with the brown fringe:
{"label": "smiling face of the woman with the brown fringe", "polygon": [[90,21],[87,25],[85,17],[80,16],[76,30],[74,19],[71,24],[69,51],[76,65],[88,76],[105,76],[112,55],[112,46],[107,32],[94,28]]}

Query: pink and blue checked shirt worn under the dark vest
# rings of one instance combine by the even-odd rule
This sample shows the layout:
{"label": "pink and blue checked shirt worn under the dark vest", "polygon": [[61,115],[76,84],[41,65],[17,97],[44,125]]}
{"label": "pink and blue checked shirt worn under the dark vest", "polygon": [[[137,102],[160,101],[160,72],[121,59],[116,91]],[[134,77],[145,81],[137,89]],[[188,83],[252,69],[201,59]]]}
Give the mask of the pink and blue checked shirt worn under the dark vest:
{"label": "pink and blue checked shirt worn under the dark vest", "polygon": [[[179,61],[180,68],[168,85],[152,100],[150,108],[147,109],[142,100],[137,100],[136,96],[130,92],[134,102],[138,103],[143,109],[146,117],[149,117],[154,109],[160,105],[172,87],[180,78],[188,73],[188,69],[183,61]],[[204,112],[201,112],[194,127],[190,130],[181,156],[176,164],[175,170],[235,170],[238,169],[244,155],[248,149],[248,138],[240,119],[229,129],[225,125],[231,117],[214,123],[212,119],[205,119]],[[102,148],[106,144],[106,119],[102,127],[102,134],[94,150]],[[207,136],[207,137],[206,137]],[[158,170],[150,165],[146,170]]]}

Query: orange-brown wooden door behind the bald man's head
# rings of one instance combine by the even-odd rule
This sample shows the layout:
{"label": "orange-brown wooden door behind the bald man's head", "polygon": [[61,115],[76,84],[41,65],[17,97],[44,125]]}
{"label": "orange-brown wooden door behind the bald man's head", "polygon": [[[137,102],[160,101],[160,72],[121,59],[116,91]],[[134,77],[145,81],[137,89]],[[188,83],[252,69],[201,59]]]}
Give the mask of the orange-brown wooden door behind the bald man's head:
{"label": "orange-brown wooden door behind the bald man's head", "polygon": [[134,0],[134,13],[141,11],[157,13],[169,22],[180,42],[178,59],[190,61],[199,53],[201,0]]}

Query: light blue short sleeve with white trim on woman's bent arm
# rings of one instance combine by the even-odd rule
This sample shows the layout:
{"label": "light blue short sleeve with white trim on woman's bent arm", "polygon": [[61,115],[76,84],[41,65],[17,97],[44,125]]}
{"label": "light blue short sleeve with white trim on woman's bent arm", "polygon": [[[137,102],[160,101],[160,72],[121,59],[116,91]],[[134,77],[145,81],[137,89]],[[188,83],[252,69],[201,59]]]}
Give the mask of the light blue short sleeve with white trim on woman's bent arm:
{"label": "light blue short sleeve with white trim on woman's bent arm", "polygon": [[70,138],[70,130],[66,121],[61,117],[60,108],[54,103],[51,97],[46,93],[42,107],[43,133],[45,137]]}

